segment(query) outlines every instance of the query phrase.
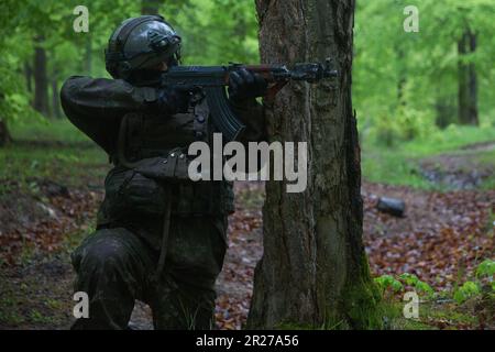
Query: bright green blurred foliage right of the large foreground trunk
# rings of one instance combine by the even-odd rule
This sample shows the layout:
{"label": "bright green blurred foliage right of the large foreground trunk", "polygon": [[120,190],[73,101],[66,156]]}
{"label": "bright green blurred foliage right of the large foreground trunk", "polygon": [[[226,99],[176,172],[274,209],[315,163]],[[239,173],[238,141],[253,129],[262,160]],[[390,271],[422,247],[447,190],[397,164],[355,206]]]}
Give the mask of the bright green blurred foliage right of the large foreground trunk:
{"label": "bright green blurred foliage right of the large foreground trunk", "polygon": [[[406,6],[419,10],[419,32],[407,33]],[[475,64],[480,119],[495,124],[495,2],[492,0],[359,1],[355,16],[353,101],[359,128],[386,146],[427,138],[455,123],[459,63]],[[458,55],[469,28],[477,35],[474,54]]]}

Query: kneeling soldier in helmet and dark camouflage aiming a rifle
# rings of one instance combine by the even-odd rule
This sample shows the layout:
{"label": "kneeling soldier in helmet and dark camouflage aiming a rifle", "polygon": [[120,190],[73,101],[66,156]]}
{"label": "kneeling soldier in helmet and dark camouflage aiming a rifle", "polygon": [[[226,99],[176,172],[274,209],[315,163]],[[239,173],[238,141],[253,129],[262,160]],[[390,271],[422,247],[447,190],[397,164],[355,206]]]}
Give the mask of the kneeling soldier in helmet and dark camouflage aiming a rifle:
{"label": "kneeling soldier in helmet and dark camouflage aiming a rifle", "polygon": [[[73,329],[128,329],[135,299],[150,305],[155,329],[210,329],[215,322],[232,185],[163,182],[139,167],[156,157],[187,160],[190,143],[210,142],[216,132],[204,95],[160,85],[160,72],[179,64],[179,47],[162,16],[129,19],[106,51],[114,79],[74,76],[62,88],[68,119],[114,164],[97,230],[72,256],[75,290],[89,296],[89,318]],[[246,124],[241,142],[264,140],[255,98],[266,81],[244,68],[229,81],[229,102]]]}

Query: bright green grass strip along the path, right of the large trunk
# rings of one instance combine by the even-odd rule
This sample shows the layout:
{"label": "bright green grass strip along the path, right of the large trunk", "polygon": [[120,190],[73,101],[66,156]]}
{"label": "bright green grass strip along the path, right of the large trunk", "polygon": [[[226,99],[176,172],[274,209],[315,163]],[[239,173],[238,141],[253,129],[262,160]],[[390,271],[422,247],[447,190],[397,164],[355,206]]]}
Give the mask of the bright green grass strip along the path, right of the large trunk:
{"label": "bright green grass strip along the path, right of the large trunk", "polygon": [[[362,145],[362,170],[365,180],[391,185],[411,186],[421,189],[440,189],[420,173],[419,162],[439,154],[473,155],[481,165],[495,167],[495,151],[465,151],[463,146],[495,142],[495,128],[451,127],[435,131],[428,139],[403,142],[393,147],[381,146],[375,141],[365,140]],[[493,188],[495,177],[488,177],[482,188]]]}

